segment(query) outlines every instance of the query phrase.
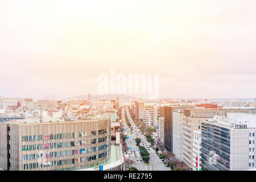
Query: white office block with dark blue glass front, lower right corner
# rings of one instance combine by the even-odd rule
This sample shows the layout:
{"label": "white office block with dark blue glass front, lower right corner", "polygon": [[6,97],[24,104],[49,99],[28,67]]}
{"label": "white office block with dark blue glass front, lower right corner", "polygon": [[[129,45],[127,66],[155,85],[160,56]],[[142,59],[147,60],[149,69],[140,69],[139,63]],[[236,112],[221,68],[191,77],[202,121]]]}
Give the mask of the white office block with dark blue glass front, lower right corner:
{"label": "white office block with dark blue glass front, lower right corner", "polygon": [[255,168],[256,115],[228,113],[202,122],[202,170]]}

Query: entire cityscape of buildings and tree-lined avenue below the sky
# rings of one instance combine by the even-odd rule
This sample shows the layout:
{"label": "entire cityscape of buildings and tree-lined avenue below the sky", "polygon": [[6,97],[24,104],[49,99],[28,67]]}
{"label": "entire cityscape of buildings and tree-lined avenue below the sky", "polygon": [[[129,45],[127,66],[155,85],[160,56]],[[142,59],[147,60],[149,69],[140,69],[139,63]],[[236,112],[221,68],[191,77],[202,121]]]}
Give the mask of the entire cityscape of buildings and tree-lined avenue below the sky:
{"label": "entire cityscape of buildings and tree-lined avenue below the sky", "polygon": [[85,97],[1,97],[1,169],[256,170],[256,99],[121,104]]}

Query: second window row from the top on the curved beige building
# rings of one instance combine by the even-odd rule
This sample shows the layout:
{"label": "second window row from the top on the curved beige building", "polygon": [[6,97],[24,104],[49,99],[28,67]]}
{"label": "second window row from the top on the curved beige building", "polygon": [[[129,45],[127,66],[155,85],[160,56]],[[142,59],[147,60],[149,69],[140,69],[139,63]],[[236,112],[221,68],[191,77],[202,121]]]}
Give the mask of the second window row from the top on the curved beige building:
{"label": "second window row from the top on the curved beige building", "polygon": [[[107,137],[98,138],[98,143],[105,142]],[[87,140],[71,141],[71,142],[56,142],[56,143],[44,143],[44,144],[30,144],[22,146],[22,151],[33,151],[51,149],[51,148],[63,148],[63,147],[74,147],[74,146],[84,146],[86,144],[94,144],[96,139],[91,139],[90,143]]]}

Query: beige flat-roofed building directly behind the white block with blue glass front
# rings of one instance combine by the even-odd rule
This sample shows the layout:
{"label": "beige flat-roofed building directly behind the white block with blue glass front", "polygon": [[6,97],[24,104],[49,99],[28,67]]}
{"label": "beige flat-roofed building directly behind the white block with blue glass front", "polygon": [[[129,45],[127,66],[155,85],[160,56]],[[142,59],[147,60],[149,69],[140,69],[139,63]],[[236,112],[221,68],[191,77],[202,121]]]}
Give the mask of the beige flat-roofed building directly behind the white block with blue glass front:
{"label": "beige flat-roofed building directly behind the white block with blue glass front", "polygon": [[194,109],[184,109],[182,126],[182,159],[192,168],[193,156],[193,133],[201,130],[201,122],[208,121],[214,115],[227,116],[228,113],[252,113],[253,109],[205,109],[205,107],[195,107]]}

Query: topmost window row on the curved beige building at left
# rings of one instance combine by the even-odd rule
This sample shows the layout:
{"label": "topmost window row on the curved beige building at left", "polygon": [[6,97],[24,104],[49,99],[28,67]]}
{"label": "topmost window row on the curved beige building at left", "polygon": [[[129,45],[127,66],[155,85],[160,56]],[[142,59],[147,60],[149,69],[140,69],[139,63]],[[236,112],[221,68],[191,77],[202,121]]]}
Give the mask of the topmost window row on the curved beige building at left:
{"label": "topmost window row on the curved beige building at left", "polygon": [[[23,142],[34,142],[39,140],[52,140],[52,139],[69,139],[69,138],[77,138],[77,137],[90,137],[95,135],[102,135],[107,133],[107,129],[91,131],[90,133],[84,132],[76,132],[76,133],[60,133],[60,134],[49,134],[49,135],[28,135],[23,136]],[[90,134],[90,135],[89,135]]]}

